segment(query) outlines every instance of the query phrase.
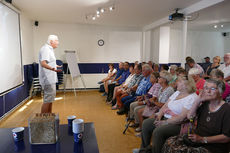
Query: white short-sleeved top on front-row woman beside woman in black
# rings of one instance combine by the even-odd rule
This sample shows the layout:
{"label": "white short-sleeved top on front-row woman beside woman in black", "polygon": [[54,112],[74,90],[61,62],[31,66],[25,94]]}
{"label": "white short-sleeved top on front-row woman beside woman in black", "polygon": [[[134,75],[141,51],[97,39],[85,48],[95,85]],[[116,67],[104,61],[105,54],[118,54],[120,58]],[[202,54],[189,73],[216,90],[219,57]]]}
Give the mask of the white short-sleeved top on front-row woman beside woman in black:
{"label": "white short-sleeved top on front-row woman beside woman in black", "polygon": [[[192,105],[195,101],[195,98],[197,97],[196,93],[190,94],[184,98],[176,100],[176,97],[180,94],[179,91],[176,91],[171,97],[169,97],[169,103],[168,108],[174,113],[174,114],[180,114],[182,112],[182,109],[185,108],[187,110],[192,108]],[[164,114],[164,117],[171,118],[172,116],[169,114]]]}

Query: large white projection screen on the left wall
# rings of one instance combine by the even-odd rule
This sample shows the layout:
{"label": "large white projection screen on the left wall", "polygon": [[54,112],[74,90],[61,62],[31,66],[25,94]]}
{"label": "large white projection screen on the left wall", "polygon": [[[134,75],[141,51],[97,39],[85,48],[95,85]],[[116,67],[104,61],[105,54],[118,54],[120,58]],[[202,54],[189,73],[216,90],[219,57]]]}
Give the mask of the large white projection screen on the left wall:
{"label": "large white projection screen on the left wall", "polygon": [[0,95],[23,84],[19,13],[0,2]]}

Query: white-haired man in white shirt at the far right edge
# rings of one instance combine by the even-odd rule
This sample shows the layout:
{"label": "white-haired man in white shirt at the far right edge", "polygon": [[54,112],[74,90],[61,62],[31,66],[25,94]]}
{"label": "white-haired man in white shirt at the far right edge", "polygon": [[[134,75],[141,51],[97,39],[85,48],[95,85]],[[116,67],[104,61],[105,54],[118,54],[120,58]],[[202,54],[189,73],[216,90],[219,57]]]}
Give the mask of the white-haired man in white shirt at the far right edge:
{"label": "white-haired man in white shirt at the far right edge", "polygon": [[224,64],[221,64],[218,68],[222,72],[224,72],[224,81],[230,81],[230,53],[224,54]]}

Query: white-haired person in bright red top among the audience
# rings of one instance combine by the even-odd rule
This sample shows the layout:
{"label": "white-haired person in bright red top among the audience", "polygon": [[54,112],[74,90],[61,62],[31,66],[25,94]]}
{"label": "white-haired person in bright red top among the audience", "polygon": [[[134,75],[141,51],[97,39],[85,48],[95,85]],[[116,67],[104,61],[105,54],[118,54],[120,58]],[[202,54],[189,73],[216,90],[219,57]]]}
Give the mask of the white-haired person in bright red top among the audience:
{"label": "white-haired person in bright red top among the audience", "polygon": [[189,75],[189,77],[193,78],[193,80],[195,81],[196,93],[197,93],[197,95],[199,95],[199,93],[203,89],[204,83],[205,83],[205,80],[202,77],[200,77],[200,75],[201,75],[200,70],[197,68],[191,68],[188,72],[188,75]]}

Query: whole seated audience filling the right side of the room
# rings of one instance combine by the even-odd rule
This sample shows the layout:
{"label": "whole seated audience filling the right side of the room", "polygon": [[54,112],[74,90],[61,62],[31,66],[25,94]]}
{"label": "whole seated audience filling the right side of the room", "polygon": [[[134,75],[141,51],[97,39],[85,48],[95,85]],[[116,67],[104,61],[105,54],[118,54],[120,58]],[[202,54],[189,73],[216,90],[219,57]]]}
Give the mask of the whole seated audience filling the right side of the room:
{"label": "whole seated audience filling the right side of the room", "polygon": [[229,153],[230,53],[185,68],[148,63],[109,64],[106,103],[126,115],[141,145],[133,153]]}

